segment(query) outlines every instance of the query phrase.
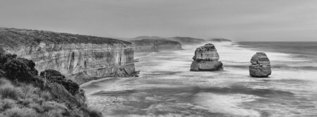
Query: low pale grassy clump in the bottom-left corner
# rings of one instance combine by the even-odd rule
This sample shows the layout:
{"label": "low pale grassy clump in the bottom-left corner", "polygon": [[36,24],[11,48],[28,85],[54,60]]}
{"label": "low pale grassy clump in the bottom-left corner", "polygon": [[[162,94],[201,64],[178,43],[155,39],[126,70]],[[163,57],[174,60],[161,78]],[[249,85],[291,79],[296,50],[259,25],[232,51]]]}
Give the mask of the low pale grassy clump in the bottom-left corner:
{"label": "low pale grassy clump in the bottom-left corner", "polygon": [[12,109],[7,109],[3,113],[4,117],[37,117],[39,113],[37,113],[34,109],[30,108],[18,108],[13,107]]}

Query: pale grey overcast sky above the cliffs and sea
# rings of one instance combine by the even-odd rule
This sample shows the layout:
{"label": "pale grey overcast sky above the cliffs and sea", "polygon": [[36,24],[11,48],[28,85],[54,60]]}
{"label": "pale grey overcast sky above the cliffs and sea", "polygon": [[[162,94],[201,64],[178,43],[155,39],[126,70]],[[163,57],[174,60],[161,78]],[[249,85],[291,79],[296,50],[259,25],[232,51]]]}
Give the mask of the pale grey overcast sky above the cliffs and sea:
{"label": "pale grey overcast sky above the cliffs and sea", "polygon": [[317,41],[317,0],[0,0],[0,27],[119,39]]}

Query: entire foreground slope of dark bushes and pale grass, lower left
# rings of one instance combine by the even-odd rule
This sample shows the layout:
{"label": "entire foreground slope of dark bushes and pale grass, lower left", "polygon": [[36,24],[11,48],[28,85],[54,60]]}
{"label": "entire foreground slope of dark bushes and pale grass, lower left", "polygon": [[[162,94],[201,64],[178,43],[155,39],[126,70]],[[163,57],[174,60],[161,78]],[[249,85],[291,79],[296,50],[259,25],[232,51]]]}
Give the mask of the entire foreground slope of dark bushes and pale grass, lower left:
{"label": "entire foreground slope of dark bushes and pale grass, lower left", "polygon": [[101,116],[87,108],[85,92],[60,72],[38,76],[32,60],[0,53],[0,116]]}

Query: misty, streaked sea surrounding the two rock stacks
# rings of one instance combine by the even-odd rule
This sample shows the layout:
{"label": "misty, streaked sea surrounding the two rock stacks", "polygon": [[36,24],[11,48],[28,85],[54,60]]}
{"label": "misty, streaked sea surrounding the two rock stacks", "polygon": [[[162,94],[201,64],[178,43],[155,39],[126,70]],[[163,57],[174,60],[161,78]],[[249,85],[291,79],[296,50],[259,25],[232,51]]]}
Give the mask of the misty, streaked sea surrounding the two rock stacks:
{"label": "misty, streaked sea surrounding the two rock stacks", "polygon": [[[194,50],[135,53],[137,78],[82,85],[104,116],[317,116],[317,42],[214,43],[225,71],[189,71]],[[256,52],[269,78],[251,78]]]}

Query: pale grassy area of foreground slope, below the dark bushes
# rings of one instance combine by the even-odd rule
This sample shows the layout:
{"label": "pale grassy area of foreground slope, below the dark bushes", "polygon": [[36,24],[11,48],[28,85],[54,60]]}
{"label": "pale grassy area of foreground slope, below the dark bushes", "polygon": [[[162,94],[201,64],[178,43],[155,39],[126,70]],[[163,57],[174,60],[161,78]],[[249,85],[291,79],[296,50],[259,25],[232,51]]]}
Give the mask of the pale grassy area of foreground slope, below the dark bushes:
{"label": "pale grassy area of foreground slope, below the dark bushes", "polygon": [[0,78],[0,95],[1,117],[55,117],[68,111],[65,105],[51,100],[50,92],[30,84],[15,86],[5,78]]}

